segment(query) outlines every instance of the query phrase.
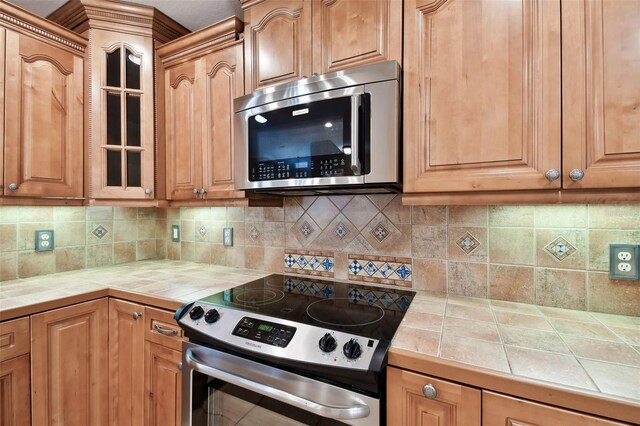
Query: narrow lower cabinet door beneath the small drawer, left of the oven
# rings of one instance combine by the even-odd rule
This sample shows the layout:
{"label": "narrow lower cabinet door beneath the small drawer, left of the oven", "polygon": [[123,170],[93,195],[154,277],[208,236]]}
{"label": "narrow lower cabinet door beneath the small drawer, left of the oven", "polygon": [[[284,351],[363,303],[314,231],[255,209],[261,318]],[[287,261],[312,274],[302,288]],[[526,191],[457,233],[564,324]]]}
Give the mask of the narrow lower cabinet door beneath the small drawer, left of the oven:
{"label": "narrow lower cabinet door beneath the small drawer, left of the oven", "polygon": [[145,342],[145,425],[181,424],[182,379],[179,351]]}

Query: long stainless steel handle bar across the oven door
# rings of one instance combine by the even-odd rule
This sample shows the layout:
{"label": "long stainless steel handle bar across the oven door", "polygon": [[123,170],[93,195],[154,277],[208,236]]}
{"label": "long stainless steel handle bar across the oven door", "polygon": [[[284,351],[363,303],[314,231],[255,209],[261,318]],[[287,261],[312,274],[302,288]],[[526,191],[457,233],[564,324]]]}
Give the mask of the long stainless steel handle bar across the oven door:
{"label": "long stainless steel handle bar across the oven door", "polygon": [[328,417],[336,420],[349,420],[365,418],[370,414],[370,409],[365,404],[354,404],[346,407],[325,405],[294,395],[285,390],[239,376],[235,373],[230,373],[228,371],[203,364],[196,359],[191,348],[186,349],[184,359],[189,367],[202,374],[254,391],[303,410],[314,412],[322,417]]}

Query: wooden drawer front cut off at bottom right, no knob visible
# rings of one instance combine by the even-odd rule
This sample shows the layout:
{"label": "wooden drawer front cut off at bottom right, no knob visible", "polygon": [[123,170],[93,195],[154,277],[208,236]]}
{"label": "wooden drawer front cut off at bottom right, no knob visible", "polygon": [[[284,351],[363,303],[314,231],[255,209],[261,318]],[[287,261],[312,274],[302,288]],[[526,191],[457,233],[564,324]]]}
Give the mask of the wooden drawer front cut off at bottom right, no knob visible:
{"label": "wooden drawer front cut off at bottom right, no knob visible", "polygon": [[483,426],[622,426],[625,424],[511,396],[482,392]]}

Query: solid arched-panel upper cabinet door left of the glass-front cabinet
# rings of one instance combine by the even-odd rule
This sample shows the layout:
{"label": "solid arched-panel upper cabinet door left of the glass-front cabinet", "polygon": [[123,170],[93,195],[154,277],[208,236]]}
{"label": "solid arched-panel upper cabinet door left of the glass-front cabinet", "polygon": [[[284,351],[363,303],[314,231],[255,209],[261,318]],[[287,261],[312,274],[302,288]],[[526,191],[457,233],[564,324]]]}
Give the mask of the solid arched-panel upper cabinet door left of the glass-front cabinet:
{"label": "solid arched-panel upper cabinet door left of the glass-front cabinet", "polygon": [[82,58],[12,31],[6,38],[4,195],[80,197]]}

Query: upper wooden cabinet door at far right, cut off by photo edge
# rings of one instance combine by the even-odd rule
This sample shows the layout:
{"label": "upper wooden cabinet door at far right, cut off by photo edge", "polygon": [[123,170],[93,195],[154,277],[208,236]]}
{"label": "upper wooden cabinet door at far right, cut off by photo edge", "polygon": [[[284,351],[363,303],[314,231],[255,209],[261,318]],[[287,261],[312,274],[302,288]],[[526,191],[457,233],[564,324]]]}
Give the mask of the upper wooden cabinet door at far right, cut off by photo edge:
{"label": "upper wooden cabinet door at far right, cut off by photo edge", "polygon": [[640,187],[638,28],[638,1],[562,1],[567,189]]}

